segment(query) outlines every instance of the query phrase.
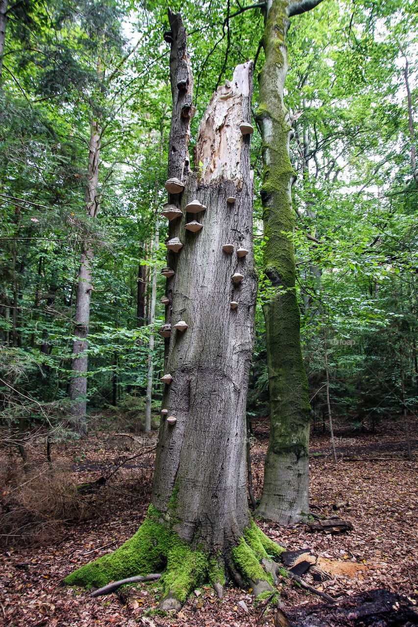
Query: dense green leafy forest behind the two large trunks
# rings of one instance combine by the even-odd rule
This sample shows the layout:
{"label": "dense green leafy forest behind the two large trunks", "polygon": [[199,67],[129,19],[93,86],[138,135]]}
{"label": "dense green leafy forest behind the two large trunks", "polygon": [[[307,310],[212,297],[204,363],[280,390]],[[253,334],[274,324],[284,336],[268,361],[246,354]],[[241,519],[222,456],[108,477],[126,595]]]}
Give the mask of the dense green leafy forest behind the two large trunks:
{"label": "dense green leafy forest behind the two large trunks", "polygon": [[[77,437],[69,397],[86,251],[94,259],[88,412],[117,408],[125,430],[144,429],[151,373],[158,425],[169,46],[161,3],[3,0],[2,8],[1,414],[4,441],[25,456],[34,428],[56,441]],[[181,11],[196,76],[193,148],[200,116],[233,67],[254,58],[257,76],[263,18],[258,5],[229,1]],[[292,18],[287,36],[289,236],[314,426],[328,421],[327,378],[333,414],[352,428],[416,408],[417,19],[408,1],[323,2]],[[259,302],[249,418],[269,415],[262,303],[270,286],[254,126]]]}

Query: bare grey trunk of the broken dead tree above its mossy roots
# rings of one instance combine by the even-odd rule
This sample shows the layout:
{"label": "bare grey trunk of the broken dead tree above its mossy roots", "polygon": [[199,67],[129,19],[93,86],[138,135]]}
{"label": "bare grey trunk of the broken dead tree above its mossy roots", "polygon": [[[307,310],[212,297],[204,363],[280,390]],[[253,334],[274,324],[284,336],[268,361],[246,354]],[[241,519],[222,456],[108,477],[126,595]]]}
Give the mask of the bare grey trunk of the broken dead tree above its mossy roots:
{"label": "bare grey trunk of the broken dead tree above its mossy roots", "polygon": [[[252,254],[250,139],[242,137],[242,120],[250,120],[252,63],[235,70],[232,82],[213,96],[200,125],[195,162],[203,163],[199,179],[189,170],[190,122],[181,115],[191,103],[193,78],[179,16],[171,14],[174,40],[170,70],[173,121],[169,140],[169,177],[185,182],[181,196],[170,194],[183,218],[169,226],[169,239],[183,242],[178,253],[168,251],[175,275],[167,280],[166,374],[163,408],[177,419],[161,422],[154,472],[153,504],[167,511],[174,482],[181,539],[201,540],[214,551],[233,542],[249,524],[245,473],[245,404],[254,347],[257,277]],[[178,83],[187,80],[187,91]],[[180,122],[180,124],[179,124]],[[227,198],[234,196],[234,204]],[[196,218],[186,205],[198,198],[207,207],[197,214],[203,228],[185,229]],[[222,246],[232,243],[227,254]],[[249,255],[238,259],[237,248]],[[244,275],[236,285],[232,275]],[[230,302],[237,301],[235,310]],[[173,325],[185,320],[181,332]]]}

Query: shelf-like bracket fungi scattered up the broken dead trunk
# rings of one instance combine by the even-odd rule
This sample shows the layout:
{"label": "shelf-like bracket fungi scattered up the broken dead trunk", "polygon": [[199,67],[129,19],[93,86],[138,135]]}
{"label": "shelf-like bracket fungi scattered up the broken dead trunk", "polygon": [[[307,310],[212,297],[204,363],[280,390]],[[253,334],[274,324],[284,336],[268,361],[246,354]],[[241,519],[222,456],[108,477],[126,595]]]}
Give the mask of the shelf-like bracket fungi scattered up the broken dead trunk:
{"label": "shelf-like bracket fungi scattered up the broken dead trunk", "polygon": [[[169,34],[169,31],[167,34]],[[164,39],[166,39],[166,34],[164,34]],[[169,41],[169,40],[166,39],[166,41]],[[254,127],[252,127],[252,125],[248,124],[247,122],[242,122],[242,124],[240,124],[240,132],[242,133],[242,135],[250,135],[254,133]],[[180,179],[177,179],[175,177],[168,179],[164,187],[169,192],[169,194],[181,194],[183,189],[185,189],[185,186],[180,181]],[[228,204],[234,204],[235,201],[236,201],[235,196],[229,196],[227,198]],[[186,204],[186,207],[185,207],[186,213],[192,213],[192,214],[202,213],[203,211],[206,211],[206,209],[207,208],[205,207],[205,205],[201,204],[200,201],[198,201],[197,199],[191,201],[191,203]],[[181,216],[183,216],[183,211],[181,211],[181,209],[179,209],[175,204],[165,203],[163,211],[161,211],[161,215],[164,216],[164,218],[168,218],[168,220],[171,222],[172,220],[176,220],[177,218],[180,218]],[[185,224],[185,229],[187,231],[191,231],[191,233],[196,233],[197,231],[200,231],[201,228],[203,228],[203,224],[198,222],[196,219],[191,220],[190,222]],[[183,248],[183,243],[180,241],[180,238],[174,237],[174,238],[171,238],[171,240],[168,240],[168,242],[166,243],[166,246],[168,250],[172,250],[173,253],[178,253],[178,251],[180,251],[181,248]],[[233,244],[224,244],[222,246],[223,252],[226,253],[227,255],[230,255],[232,251],[234,250],[234,248],[235,246]],[[245,257],[246,255],[248,255],[248,253],[249,253],[249,250],[247,250],[246,248],[241,248],[241,247],[237,248],[238,258]],[[175,272],[172,268],[163,268],[163,270],[161,270],[161,274],[163,275],[163,277],[166,277],[167,279],[169,279],[171,277],[174,277]],[[239,272],[235,272],[232,275],[232,281],[233,283],[235,283],[235,285],[238,285],[239,283],[241,283],[243,278],[244,278],[244,275],[240,274]],[[167,306],[169,305],[170,301],[167,296],[163,296],[160,302],[163,303],[163,305]],[[238,303],[235,300],[232,300],[230,302],[230,308],[236,309],[237,307],[238,307]],[[177,329],[178,331],[182,333],[187,328],[188,328],[188,324],[186,324],[185,320],[179,320],[176,324],[173,325],[173,329]],[[162,337],[170,337],[171,324],[163,324],[163,326],[160,327],[158,332]],[[171,381],[173,381],[173,377],[171,376],[171,374],[164,374],[164,376],[161,377],[160,381],[169,386]],[[174,424],[176,424],[177,422],[177,418],[175,416],[168,416],[168,409],[161,409],[161,416],[167,416],[166,422],[170,426],[174,426]]]}

